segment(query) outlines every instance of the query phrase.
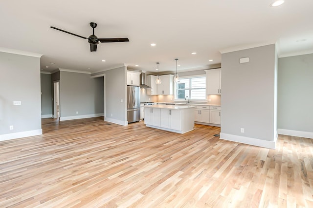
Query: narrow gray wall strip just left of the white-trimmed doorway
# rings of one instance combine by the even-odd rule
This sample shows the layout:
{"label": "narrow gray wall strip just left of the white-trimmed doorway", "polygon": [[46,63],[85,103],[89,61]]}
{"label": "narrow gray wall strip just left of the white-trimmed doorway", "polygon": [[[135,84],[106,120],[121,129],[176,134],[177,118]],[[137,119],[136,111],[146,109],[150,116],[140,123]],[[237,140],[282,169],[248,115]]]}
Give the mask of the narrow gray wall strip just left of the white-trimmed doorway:
{"label": "narrow gray wall strip just left of the white-trimmed doorway", "polygon": [[50,74],[40,74],[41,114],[52,114],[52,84]]}

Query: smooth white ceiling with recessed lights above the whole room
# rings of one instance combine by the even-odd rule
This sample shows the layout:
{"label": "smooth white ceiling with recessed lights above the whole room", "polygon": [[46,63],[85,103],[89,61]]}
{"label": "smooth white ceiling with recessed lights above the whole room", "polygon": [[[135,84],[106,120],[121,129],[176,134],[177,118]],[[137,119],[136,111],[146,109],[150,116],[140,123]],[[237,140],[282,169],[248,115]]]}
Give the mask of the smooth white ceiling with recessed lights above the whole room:
{"label": "smooth white ceiling with recessed lights above the whole room", "polygon": [[[221,53],[273,43],[279,57],[313,53],[313,1],[270,7],[272,1],[4,1],[0,47],[42,54],[46,72],[91,73],[124,65],[156,73],[156,62],[160,73],[174,72],[175,58],[179,72],[209,69],[221,63]],[[88,40],[50,28],[89,37],[89,22],[98,24],[98,38],[130,42],[99,43],[97,52],[90,52]]]}

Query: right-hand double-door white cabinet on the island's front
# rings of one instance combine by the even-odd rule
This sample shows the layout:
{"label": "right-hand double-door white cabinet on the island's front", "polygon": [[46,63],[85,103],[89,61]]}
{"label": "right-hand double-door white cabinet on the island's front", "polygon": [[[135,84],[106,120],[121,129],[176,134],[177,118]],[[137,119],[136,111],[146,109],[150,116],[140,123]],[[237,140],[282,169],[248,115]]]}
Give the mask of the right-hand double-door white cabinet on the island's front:
{"label": "right-hand double-door white cabinet on the island's front", "polygon": [[180,111],[161,109],[161,127],[181,130]]}

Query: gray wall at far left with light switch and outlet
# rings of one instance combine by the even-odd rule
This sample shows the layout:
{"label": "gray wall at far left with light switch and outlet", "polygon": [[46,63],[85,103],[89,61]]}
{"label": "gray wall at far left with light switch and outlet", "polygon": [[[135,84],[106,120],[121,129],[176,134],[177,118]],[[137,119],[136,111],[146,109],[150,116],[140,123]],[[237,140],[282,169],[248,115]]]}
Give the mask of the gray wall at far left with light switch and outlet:
{"label": "gray wall at far left with light switch and outlet", "polygon": [[0,52],[0,69],[0,137],[41,131],[40,58]]}

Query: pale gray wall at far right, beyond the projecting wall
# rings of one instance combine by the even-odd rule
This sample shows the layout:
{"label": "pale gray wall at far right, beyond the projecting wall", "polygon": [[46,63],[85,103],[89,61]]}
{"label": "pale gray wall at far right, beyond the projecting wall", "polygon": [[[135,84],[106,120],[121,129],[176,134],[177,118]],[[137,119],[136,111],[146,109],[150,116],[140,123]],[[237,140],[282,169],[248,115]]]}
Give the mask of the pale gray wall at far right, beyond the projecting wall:
{"label": "pale gray wall at far right, beyond the projecting wall", "polygon": [[278,65],[278,129],[313,132],[313,54]]}

